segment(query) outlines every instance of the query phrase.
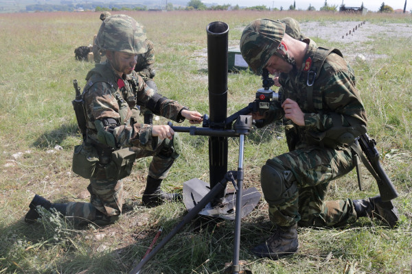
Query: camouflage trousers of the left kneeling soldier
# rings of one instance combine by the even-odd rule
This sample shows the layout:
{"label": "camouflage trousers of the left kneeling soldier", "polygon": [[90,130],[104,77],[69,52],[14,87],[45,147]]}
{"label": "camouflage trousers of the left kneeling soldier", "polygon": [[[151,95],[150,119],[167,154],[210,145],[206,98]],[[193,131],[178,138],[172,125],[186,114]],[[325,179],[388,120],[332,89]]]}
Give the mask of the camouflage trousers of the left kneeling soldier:
{"label": "camouflage trousers of the left kneeling soldier", "polygon": [[[137,159],[153,156],[148,175],[154,179],[165,179],[174,162],[170,152],[164,149],[162,144],[160,143],[155,150],[133,148]],[[83,221],[95,220],[99,211],[108,217],[108,223],[117,220],[119,214],[122,213],[123,206],[122,179],[107,179],[104,167],[96,167],[87,190],[91,195],[90,203],[68,203],[66,216],[75,219],[76,224],[80,224]]]}

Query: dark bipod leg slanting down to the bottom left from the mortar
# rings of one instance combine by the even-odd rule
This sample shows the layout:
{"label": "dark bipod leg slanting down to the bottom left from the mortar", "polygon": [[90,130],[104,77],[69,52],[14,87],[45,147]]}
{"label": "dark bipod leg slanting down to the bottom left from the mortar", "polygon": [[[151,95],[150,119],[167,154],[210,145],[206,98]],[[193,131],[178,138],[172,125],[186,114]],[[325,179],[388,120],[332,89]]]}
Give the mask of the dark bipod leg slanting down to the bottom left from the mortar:
{"label": "dark bipod leg slanting down to the bottom left from the mortar", "polygon": [[161,242],[159,242],[159,244],[155,247],[155,249],[153,249],[150,253],[148,253],[148,255],[143,258],[139,264],[137,264],[137,266],[135,266],[134,269],[132,269],[132,271],[129,272],[129,274],[138,274],[139,271],[141,271],[141,269],[143,268],[143,266],[153,257],[156,255],[156,253],[165,245],[169,242],[170,239],[173,238],[174,235],[177,234],[177,232],[179,232],[179,230],[183,227],[183,225],[185,225],[186,223],[188,223],[189,221],[191,221],[194,216],[196,216],[196,214],[198,214],[198,212],[200,212],[203,208],[205,208],[205,206],[207,205],[207,203],[209,203],[212,199],[214,199],[214,197],[216,195],[218,195],[218,193],[226,188],[227,182],[228,182],[228,177],[232,176],[231,172],[229,171],[228,173],[226,173],[225,178],[222,179],[222,181],[218,182],[218,184],[216,184],[216,186],[214,186],[213,188],[211,188],[211,190],[207,193],[207,195],[205,195],[205,197],[203,197],[203,199],[201,199],[201,201],[199,201],[196,206],[194,206],[194,208],[192,208],[192,210],[190,210],[184,217],[183,220],[176,225],[176,227],[174,227],[174,229],[167,235],[165,236],[165,238],[163,238],[163,240],[161,240]]}

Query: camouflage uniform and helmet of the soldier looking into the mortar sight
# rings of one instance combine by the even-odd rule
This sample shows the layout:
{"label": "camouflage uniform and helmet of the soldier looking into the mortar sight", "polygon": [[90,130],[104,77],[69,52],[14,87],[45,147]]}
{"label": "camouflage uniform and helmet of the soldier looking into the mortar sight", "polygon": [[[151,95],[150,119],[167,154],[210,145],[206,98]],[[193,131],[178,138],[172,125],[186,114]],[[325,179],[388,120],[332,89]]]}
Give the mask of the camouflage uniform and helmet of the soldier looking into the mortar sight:
{"label": "camouflage uniform and helmet of the soldier looking into the mortar sight", "polygon": [[[268,58],[275,54],[280,43],[278,37],[283,36],[285,26],[264,20],[254,21],[253,24],[271,29],[271,32],[267,32],[269,36],[263,38],[253,37],[255,31],[250,31],[250,27],[245,32],[247,30],[251,34],[244,32],[242,35],[244,59],[258,72],[262,71]],[[304,64],[301,68],[293,69],[282,82],[282,101],[290,98],[298,103],[304,112],[305,125],[287,125],[286,138],[290,152],[267,160],[262,167],[262,190],[269,205],[271,221],[281,227],[290,227],[297,222],[304,226],[345,225],[356,220],[354,204],[350,199],[325,201],[325,195],[333,179],[354,168],[350,147],[323,147],[313,136],[334,127],[349,126],[349,117],[352,117],[352,123],[356,121],[366,126],[365,108],[355,87],[354,71],[336,53],[328,55],[323,63],[319,77],[312,86],[312,101],[308,101],[305,60],[310,57],[313,59],[317,45],[308,38],[304,42],[308,44]],[[271,105],[265,124],[283,117],[284,110],[279,105]],[[279,192],[282,193],[280,197]]]}

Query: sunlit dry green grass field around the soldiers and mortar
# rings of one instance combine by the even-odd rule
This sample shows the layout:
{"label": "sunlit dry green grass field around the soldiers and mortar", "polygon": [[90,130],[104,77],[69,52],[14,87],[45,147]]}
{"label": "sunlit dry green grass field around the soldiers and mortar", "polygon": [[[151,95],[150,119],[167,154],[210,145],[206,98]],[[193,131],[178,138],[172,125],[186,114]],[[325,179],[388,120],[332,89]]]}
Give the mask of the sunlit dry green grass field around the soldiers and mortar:
{"label": "sunlit dry green grass field around the soldiers and mortar", "polygon": [[[208,113],[207,35],[213,21],[229,25],[229,46],[238,45],[242,29],[255,18],[291,16],[328,28],[336,22],[366,21],[411,26],[412,17],[391,14],[347,16],[322,12],[129,12],[145,25],[155,43],[155,78],[159,92]],[[74,49],[89,45],[98,32],[100,14],[0,14],[0,273],[128,273],[141,260],[159,227],[159,241],[187,213],[182,203],[157,208],[135,206],[108,227],[72,227],[52,214],[34,225],[23,218],[37,193],[53,202],[88,201],[88,182],[71,171],[73,147],[80,143],[71,106],[72,80],[84,86],[93,67],[74,59]],[[305,32],[305,29],[302,29]],[[346,29],[345,29],[346,31]],[[381,58],[352,59],[358,88],[367,109],[369,135],[378,141],[382,166],[396,186],[401,222],[395,229],[370,219],[341,228],[299,228],[296,255],[271,261],[255,258],[250,249],[271,234],[267,204],[242,220],[240,259],[253,273],[411,273],[412,259],[412,40],[389,32],[370,34],[356,44],[311,37],[319,45],[354,50]],[[367,46],[367,47],[365,47]],[[260,77],[231,73],[228,114],[254,99]],[[157,123],[165,123],[161,119]],[[188,126],[187,122],[183,125]],[[208,182],[207,138],[181,134],[183,153],[176,160],[165,190],[180,190],[194,177]],[[60,149],[61,148],[61,149]],[[244,147],[244,186],[260,189],[260,167],[287,151],[282,128],[254,129]],[[137,160],[125,180],[126,198],[139,201],[150,159]],[[229,138],[229,169],[238,166],[238,139]],[[356,173],[330,184],[329,199],[361,199],[378,193],[364,172],[358,190]],[[141,273],[222,273],[233,253],[232,221],[200,217],[186,225]],[[159,242],[158,241],[158,242]]]}

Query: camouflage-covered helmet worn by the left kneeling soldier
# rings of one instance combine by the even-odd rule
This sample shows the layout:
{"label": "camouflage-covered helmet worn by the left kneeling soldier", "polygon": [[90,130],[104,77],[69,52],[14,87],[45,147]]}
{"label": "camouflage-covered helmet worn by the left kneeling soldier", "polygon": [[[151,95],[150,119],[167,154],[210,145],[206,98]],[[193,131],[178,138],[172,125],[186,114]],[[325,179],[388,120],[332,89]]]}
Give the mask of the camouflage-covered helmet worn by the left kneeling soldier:
{"label": "camouflage-covered helmet worn by the left kneeling soldier", "polygon": [[104,50],[131,54],[148,51],[144,27],[125,14],[115,14],[106,18],[100,26],[95,41],[102,55]]}

